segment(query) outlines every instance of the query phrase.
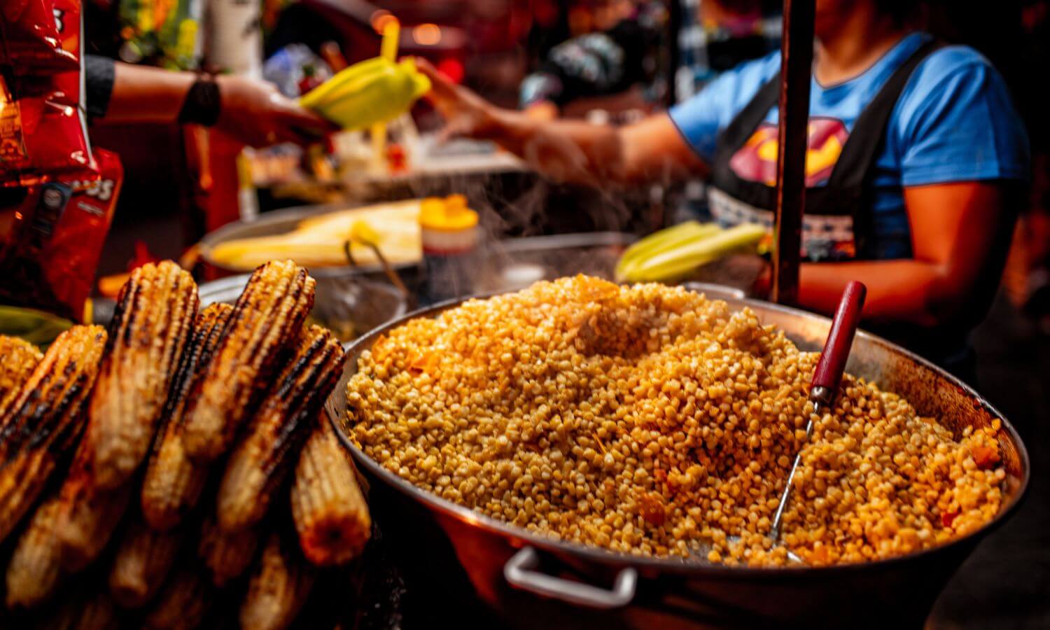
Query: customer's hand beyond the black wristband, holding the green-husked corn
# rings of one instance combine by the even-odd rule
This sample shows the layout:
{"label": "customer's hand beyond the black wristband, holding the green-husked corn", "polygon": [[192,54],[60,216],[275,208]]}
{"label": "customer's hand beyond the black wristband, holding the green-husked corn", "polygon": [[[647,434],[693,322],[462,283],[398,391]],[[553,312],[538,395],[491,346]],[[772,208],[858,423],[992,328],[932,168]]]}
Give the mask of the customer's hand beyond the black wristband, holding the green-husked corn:
{"label": "customer's hand beyond the black wristband, holding the green-husked corn", "polygon": [[309,144],[339,129],[270,83],[226,75],[216,77],[215,83],[219,99],[215,127],[247,145]]}

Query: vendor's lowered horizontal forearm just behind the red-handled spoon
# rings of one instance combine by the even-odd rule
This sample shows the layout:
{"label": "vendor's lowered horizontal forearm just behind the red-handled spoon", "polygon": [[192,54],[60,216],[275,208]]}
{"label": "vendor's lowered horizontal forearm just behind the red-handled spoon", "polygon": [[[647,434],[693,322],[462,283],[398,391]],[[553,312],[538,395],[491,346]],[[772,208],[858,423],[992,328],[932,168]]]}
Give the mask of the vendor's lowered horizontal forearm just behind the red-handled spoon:
{"label": "vendor's lowered horizontal forearm just behind the red-handled spoon", "polygon": [[919,260],[803,264],[799,306],[830,315],[849,280],[867,287],[866,319],[936,326],[951,317],[950,279],[936,265]]}

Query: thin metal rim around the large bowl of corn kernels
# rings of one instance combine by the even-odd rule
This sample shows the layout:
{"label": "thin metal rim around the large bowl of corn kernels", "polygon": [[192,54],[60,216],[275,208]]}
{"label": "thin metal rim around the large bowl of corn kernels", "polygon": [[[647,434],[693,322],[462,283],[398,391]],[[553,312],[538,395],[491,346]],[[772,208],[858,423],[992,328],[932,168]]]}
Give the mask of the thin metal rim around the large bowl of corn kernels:
{"label": "thin metal rim around the large bowl of corn kernels", "polygon": [[[469,299],[485,299],[488,297],[494,297],[496,295],[501,295],[502,293],[492,293],[484,295],[476,295],[465,298],[450,299],[447,301],[439,302],[430,307],[417,309],[411,313],[407,313],[397,319],[391,320],[385,324],[373,329],[369,333],[358,337],[357,339],[345,344],[346,353],[356,352],[359,346],[370,345],[376,340],[377,337],[383,333],[397,328],[416,317],[433,317],[442,311],[455,308]],[[779,311],[785,315],[804,317],[810,319],[817,319],[826,323],[831,320],[822,315],[817,315],[815,313],[810,313],[800,309],[794,309],[791,307],[784,307],[781,304],[776,304],[772,302],[755,300],[750,298],[734,299],[734,301],[739,302],[741,307],[758,307],[762,310],[773,310]],[[731,304],[732,306],[732,304]],[[523,547],[525,545],[530,545],[537,547],[538,549],[543,549],[548,552],[555,554],[568,554],[575,558],[580,558],[592,563],[597,563],[603,566],[610,567],[632,567],[638,571],[653,572],[657,571],[660,573],[676,573],[676,574],[691,574],[691,575],[705,575],[705,576],[717,576],[717,578],[733,578],[739,580],[753,580],[753,579],[778,579],[783,575],[797,576],[805,575],[806,578],[818,578],[826,576],[834,578],[838,574],[854,573],[858,571],[866,571],[870,569],[889,569],[895,565],[908,563],[915,560],[920,560],[924,558],[931,558],[933,555],[939,555],[948,552],[949,550],[962,547],[963,545],[969,543],[976,543],[983,539],[988,533],[992,532],[994,529],[1000,527],[1008,518],[1013,516],[1013,512],[1017,509],[1022,500],[1025,498],[1028,491],[1029,478],[1031,477],[1031,462],[1028,456],[1028,449],[1025,446],[1024,441],[1022,441],[1021,436],[1017,434],[1016,429],[1012,424],[989,403],[983,396],[974,392],[969,385],[959,380],[951,374],[948,374],[944,370],[938,368],[930,361],[916,355],[915,353],[897,345],[882,337],[873,335],[863,330],[857,331],[857,335],[861,338],[865,338],[869,341],[878,343],[880,345],[886,346],[894,352],[900,353],[905,356],[905,358],[915,361],[922,366],[930,370],[940,376],[947,378],[949,382],[960,387],[967,396],[981,403],[981,405],[993,417],[999,418],[1002,422],[1002,429],[1010,436],[1014,447],[1017,450],[1017,459],[1021,467],[1021,478],[1020,485],[1016,491],[1013,492],[1010,503],[1005,507],[1001,507],[999,513],[995,514],[993,519],[981,526],[981,528],[971,531],[970,533],[958,538],[951,542],[944,545],[938,545],[936,547],[930,547],[929,549],[924,549],[915,553],[908,553],[905,555],[898,555],[894,558],[887,558],[882,560],[876,560],[870,562],[859,562],[859,563],[843,563],[836,565],[828,565],[822,567],[795,567],[795,566],[784,566],[784,567],[750,567],[750,566],[735,566],[729,567],[724,565],[716,565],[707,562],[686,562],[677,560],[669,560],[667,558],[655,558],[655,556],[635,556],[627,553],[621,553],[616,551],[609,551],[602,549],[600,547],[593,547],[588,545],[583,545],[580,543],[572,543],[567,541],[562,541],[558,539],[551,539],[542,537],[539,534],[531,533],[521,527],[499,521],[491,517],[474,511],[472,509],[448,501],[447,499],[442,499],[436,495],[433,495],[426,490],[416,487],[411,482],[402,479],[398,475],[386,470],[375,462],[372,458],[366,456],[362,450],[354,445],[353,442],[343,433],[341,426],[341,418],[335,418],[329,412],[329,405],[326,405],[326,414],[329,416],[329,421],[335,428],[336,436],[342,443],[358,465],[363,466],[371,475],[379,478],[385,484],[393,486],[402,495],[414,499],[417,502],[421,502],[427,507],[427,509],[435,510],[446,517],[452,517],[462,523],[465,526],[480,527],[481,529],[487,531],[488,533],[498,534],[501,538],[508,539],[510,544],[514,547]],[[345,368],[344,368],[345,370]],[[330,396],[330,400],[336,396],[345,396],[344,392],[335,391]]]}

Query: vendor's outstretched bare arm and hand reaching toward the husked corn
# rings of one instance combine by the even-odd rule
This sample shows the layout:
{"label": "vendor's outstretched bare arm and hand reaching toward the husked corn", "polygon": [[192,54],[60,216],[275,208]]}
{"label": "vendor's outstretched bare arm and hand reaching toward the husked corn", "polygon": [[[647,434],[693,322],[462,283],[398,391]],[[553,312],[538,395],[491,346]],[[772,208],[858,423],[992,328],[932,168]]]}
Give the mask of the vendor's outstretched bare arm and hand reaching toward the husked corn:
{"label": "vendor's outstretched bare arm and hand reaching toward the husked corn", "polygon": [[492,140],[554,180],[597,186],[706,172],[666,113],[624,127],[537,120],[488,103],[425,61],[418,64],[434,84],[428,98],[445,118],[445,134]]}

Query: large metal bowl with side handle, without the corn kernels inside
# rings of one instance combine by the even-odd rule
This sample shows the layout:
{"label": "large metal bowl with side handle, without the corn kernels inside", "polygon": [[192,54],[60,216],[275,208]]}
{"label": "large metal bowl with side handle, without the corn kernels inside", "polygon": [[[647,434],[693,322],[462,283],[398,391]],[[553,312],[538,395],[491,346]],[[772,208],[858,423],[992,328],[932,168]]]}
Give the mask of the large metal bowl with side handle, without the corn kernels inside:
{"label": "large metal bowl with side handle, without the corn kernels inside", "polygon": [[[750,307],[804,350],[819,350],[827,335],[825,317],[732,294],[717,297],[733,309]],[[427,588],[443,593],[435,594],[435,602],[472,588],[503,623],[521,627],[920,628],[951,574],[1025,494],[1028,454],[1002,414],[928,361],[862,331],[849,355],[849,373],[903,396],[920,414],[956,432],[1002,419],[1005,498],[1000,513],[980,530],[892,560],[821,568],[731,568],[702,559],[633,558],[532,534],[413,486],[345,438],[345,384],[360,353],[408,319],[432,317],[458,303],[412,313],[352,343],[342,379],[326,405],[371,486],[370,503],[387,541],[412,550],[408,555],[418,559],[412,564],[430,581]],[[470,586],[453,586],[464,574]]]}

